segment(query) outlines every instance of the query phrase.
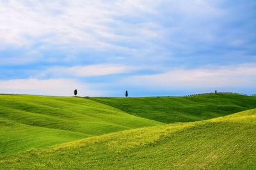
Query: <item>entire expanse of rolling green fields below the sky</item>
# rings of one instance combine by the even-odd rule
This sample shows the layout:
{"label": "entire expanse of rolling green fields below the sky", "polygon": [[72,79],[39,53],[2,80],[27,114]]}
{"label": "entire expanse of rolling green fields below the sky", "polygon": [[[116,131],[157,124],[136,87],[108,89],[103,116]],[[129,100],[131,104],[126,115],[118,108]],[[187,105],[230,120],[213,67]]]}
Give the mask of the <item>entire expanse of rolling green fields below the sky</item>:
{"label": "entire expanse of rolling green fields below the sky", "polygon": [[0,169],[255,169],[255,99],[0,95]]}

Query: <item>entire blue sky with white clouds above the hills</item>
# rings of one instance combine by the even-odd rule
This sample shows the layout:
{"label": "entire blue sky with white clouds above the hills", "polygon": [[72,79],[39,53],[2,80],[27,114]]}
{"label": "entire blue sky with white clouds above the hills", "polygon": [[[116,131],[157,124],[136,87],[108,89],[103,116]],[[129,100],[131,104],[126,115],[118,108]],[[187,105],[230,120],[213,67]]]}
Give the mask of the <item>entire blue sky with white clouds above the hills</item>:
{"label": "entire blue sky with white clouds above the hills", "polygon": [[2,0],[0,93],[256,94],[255,0]]}

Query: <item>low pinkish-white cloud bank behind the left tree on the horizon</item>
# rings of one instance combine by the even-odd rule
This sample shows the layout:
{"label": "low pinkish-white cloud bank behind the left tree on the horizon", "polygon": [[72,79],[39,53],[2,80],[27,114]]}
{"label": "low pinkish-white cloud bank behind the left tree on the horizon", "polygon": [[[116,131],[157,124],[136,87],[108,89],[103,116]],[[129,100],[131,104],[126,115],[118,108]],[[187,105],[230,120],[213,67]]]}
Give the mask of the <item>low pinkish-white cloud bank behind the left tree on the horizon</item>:
{"label": "low pinkish-white cloud bank behind the left tree on the horizon", "polygon": [[73,96],[77,89],[78,96],[106,96],[106,92],[95,90],[97,85],[81,83],[74,79],[15,79],[0,81],[0,93],[36,94],[49,96]]}

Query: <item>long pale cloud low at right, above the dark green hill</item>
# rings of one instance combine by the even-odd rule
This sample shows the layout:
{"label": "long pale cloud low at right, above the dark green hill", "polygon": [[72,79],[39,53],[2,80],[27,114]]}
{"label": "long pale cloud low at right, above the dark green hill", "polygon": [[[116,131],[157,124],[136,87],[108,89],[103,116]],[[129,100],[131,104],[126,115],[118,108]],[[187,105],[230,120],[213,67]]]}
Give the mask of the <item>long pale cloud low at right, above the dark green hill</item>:
{"label": "long pale cloud low at right, above the dark green hill", "polygon": [[124,81],[147,89],[252,88],[256,84],[256,65],[177,68],[162,74],[132,76]]}

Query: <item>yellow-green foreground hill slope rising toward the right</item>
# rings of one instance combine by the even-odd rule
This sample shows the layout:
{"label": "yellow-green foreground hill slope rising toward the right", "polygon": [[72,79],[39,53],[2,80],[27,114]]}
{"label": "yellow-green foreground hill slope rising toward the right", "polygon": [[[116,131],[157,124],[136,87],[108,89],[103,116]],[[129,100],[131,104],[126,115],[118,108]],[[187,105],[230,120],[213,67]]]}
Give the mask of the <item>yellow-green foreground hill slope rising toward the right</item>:
{"label": "yellow-green foreground hill slope rising toward the right", "polygon": [[1,169],[255,169],[256,110],[0,157]]}

